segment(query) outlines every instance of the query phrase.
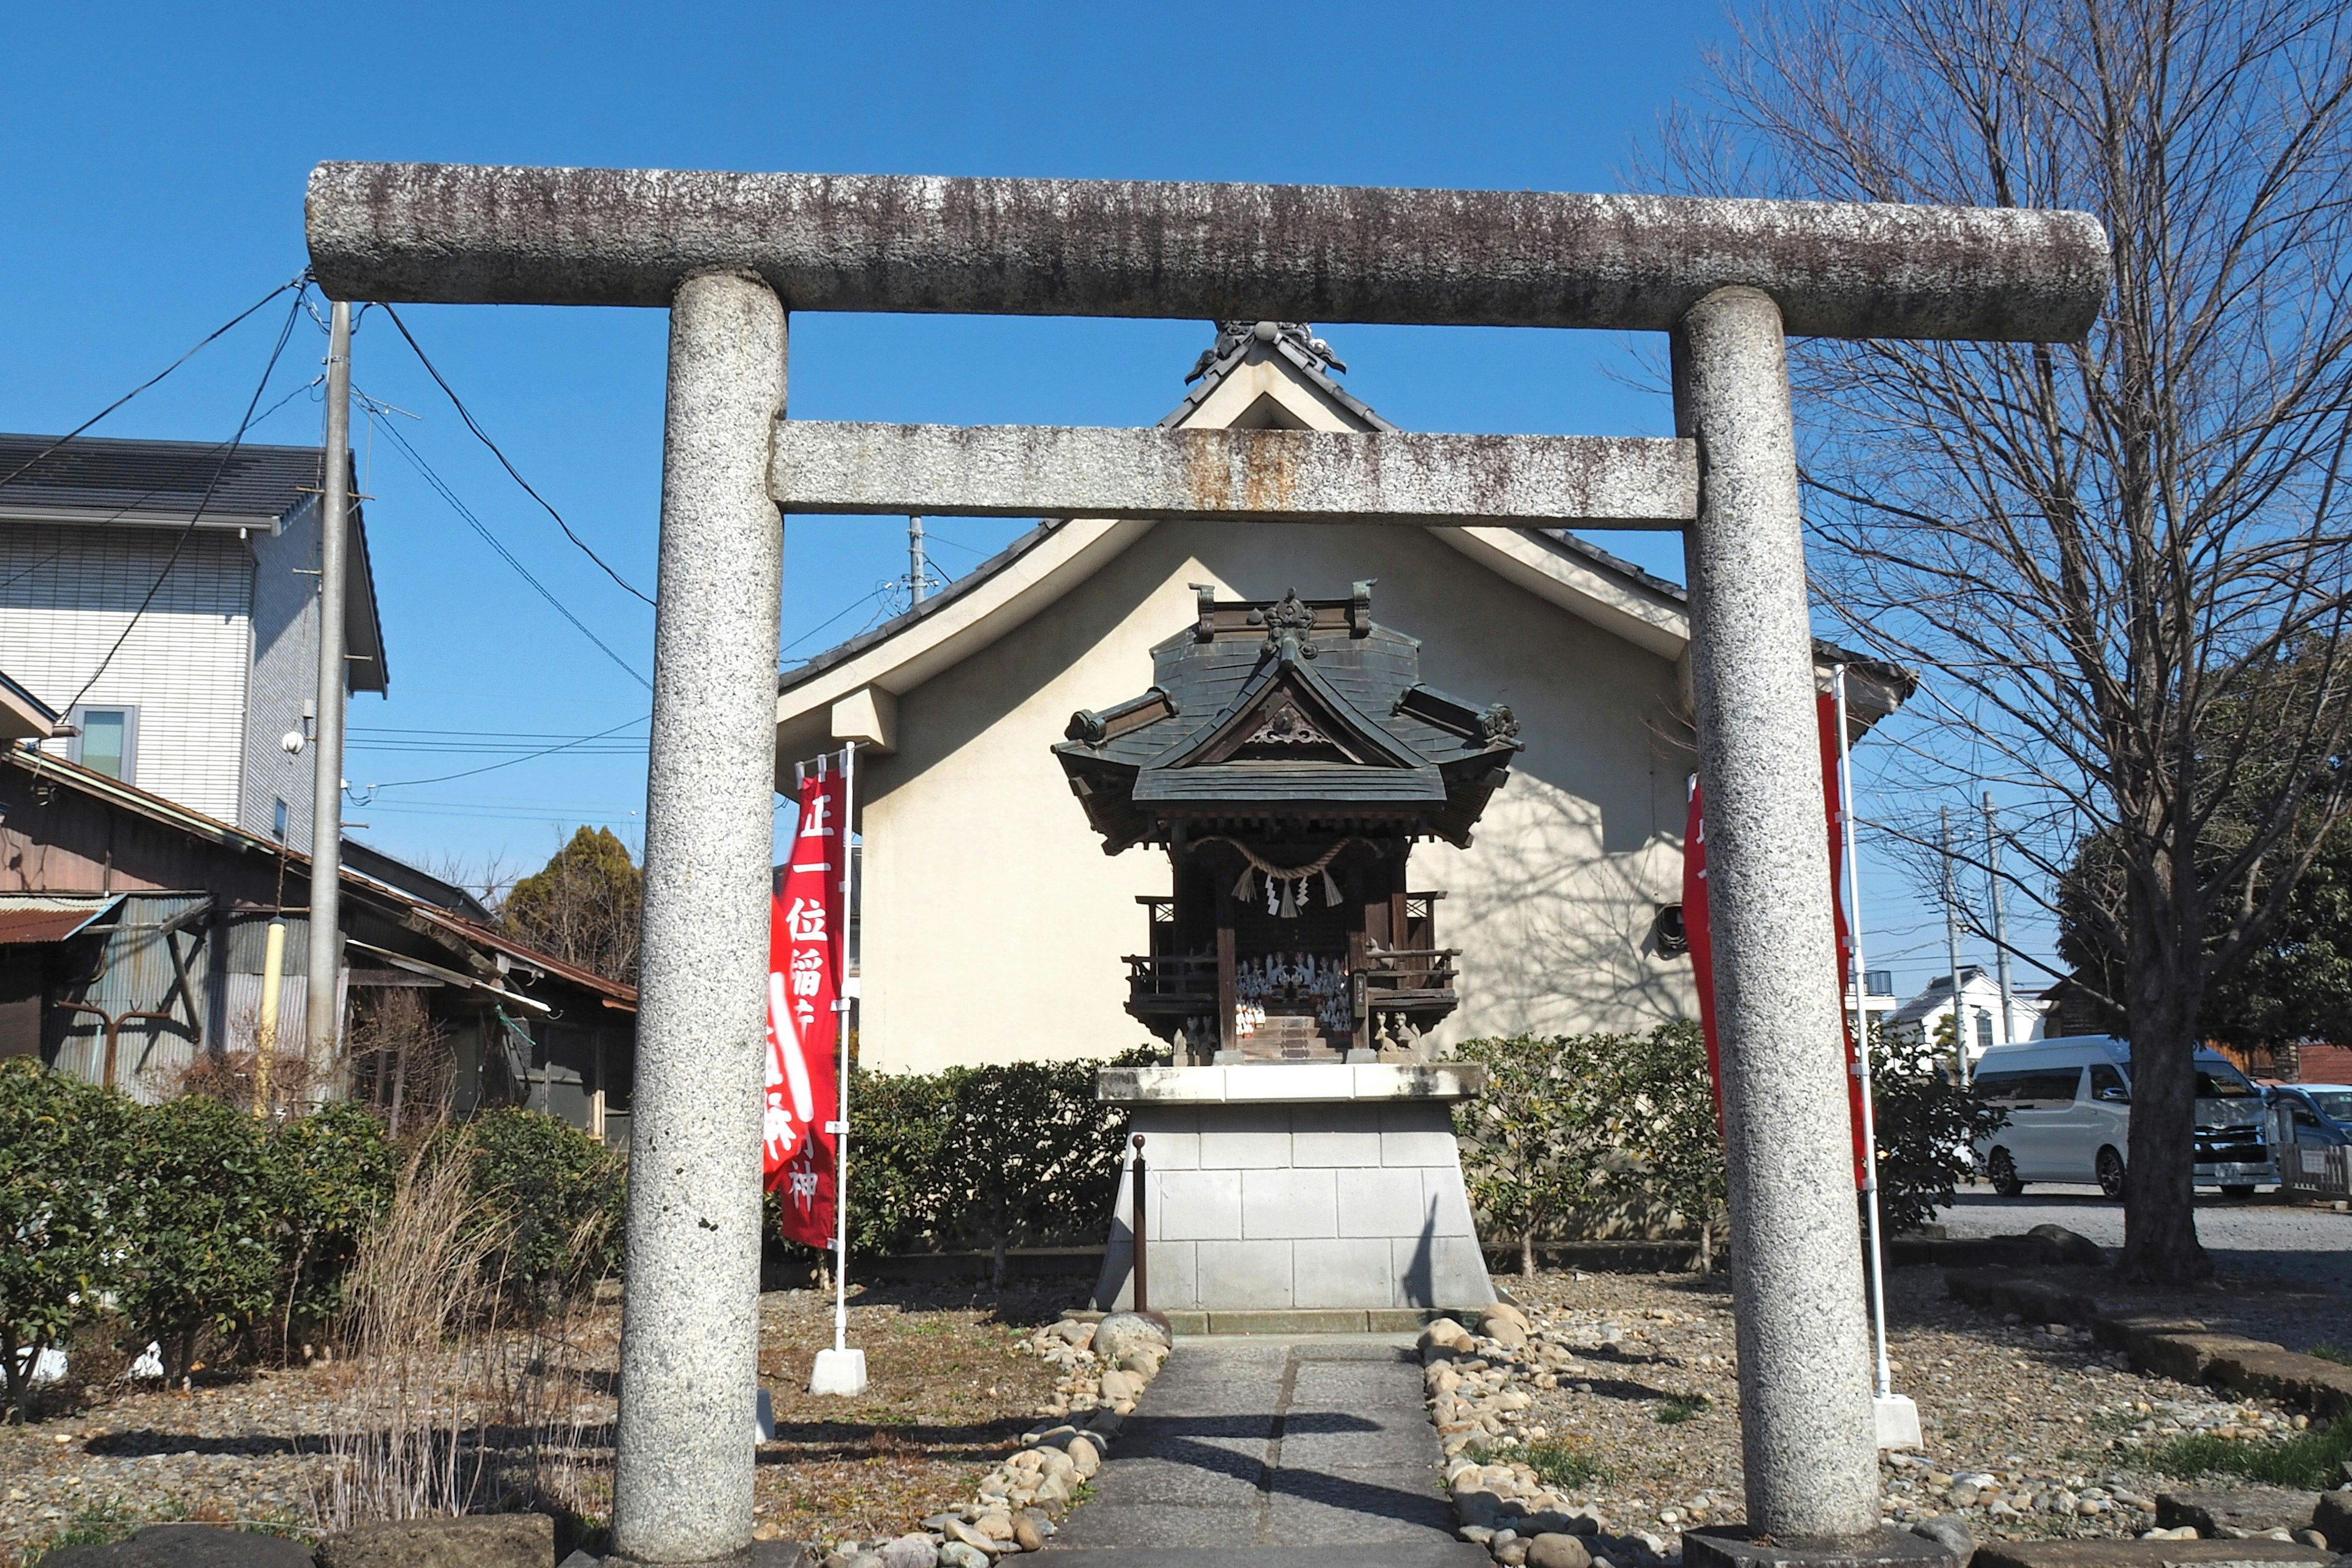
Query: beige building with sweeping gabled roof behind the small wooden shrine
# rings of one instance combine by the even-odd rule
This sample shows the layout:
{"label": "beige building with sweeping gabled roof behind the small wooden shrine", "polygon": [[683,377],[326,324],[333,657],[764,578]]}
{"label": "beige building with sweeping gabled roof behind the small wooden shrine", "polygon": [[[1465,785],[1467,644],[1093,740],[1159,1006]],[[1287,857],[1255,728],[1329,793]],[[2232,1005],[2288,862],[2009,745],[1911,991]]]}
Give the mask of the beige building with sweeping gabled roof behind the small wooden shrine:
{"label": "beige building with sweeping gabled roof behind the small wooden shrine", "polygon": [[[1301,324],[1218,327],[1162,425],[1392,428]],[[1437,1046],[1693,1016],[1679,943],[1693,769],[1679,588],[1550,529],[1070,517],[781,677],[786,788],[795,762],[851,738],[866,748],[863,1058],[931,1070],[1145,1044],[1131,973],[1148,966],[1127,959],[1160,950],[1148,922],[1171,900],[1169,851],[1105,853],[1073,799],[1084,780],[1063,776],[1054,748],[1091,719],[1110,733],[1141,722],[1131,698],[1152,689],[1155,646],[1211,609],[1261,604],[1277,618],[1296,590],[1338,625],[1357,583],[1371,621],[1416,639],[1425,686],[1503,710],[1522,743],[1475,837],[1418,842],[1414,893],[1397,893],[1404,924],[1355,931],[1357,950],[1423,947],[1432,926],[1437,947],[1458,950]],[[1830,658],[1851,661],[1820,658],[1823,679]],[[1858,672],[1860,724],[1907,696],[1898,670]],[[1298,891],[1331,896],[1319,882]],[[1444,903],[1418,903],[1425,893]],[[1324,976],[1348,952],[1334,945]]]}

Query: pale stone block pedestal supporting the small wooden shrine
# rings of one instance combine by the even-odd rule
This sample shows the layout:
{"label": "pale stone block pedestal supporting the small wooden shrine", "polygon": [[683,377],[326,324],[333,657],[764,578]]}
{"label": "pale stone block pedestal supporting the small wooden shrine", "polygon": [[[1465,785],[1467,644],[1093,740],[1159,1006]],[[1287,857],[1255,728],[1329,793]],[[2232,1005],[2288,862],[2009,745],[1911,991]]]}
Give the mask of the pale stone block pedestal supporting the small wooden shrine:
{"label": "pale stone block pedestal supporting the small wooden shrine", "polygon": [[[1454,1105],[1468,1065],[1105,1067],[1096,1095],[1143,1133],[1160,1312],[1484,1307]],[[1131,1171],[1096,1305],[1134,1305]]]}

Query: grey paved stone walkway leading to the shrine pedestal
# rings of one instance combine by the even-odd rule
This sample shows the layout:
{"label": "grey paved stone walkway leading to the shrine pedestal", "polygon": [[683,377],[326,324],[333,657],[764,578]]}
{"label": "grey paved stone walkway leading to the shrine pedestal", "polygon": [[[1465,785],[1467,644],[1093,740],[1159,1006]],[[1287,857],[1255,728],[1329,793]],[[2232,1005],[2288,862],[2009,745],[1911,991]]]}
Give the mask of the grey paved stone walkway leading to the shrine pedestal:
{"label": "grey paved stone walkway leading to the shrine pedestal", "polygon": [[1188,1338],[1047,1544],[1056,1568],[1479,1568],[1409,1338]]}

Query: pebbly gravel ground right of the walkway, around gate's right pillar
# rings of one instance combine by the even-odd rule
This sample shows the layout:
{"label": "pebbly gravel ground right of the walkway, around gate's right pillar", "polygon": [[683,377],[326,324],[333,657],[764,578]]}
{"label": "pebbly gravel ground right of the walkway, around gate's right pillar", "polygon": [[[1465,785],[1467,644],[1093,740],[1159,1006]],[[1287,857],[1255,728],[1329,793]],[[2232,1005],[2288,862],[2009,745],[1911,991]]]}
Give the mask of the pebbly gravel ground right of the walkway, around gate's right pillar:
{"label": "pebbly gravel ground right of the walkway, around gate's right pillar", "polygon": [[[1552,1453],[1595,1474],[1555,1481],[1550,1502],[1597,1514],[1618,1537],[1646,1533],[1663,1556],[1679,1552],[1682,1526],[1743,1514],[1722,1276],[1548,1272],[1496,1284],[1536,1333],[1517,1354],[1482,1342],[1489,1366],[1472,1361],[1463,1389],[1477,1425],[1449,1448],[1526,1460],[1529,1448],[1557,1443]],[[2296,1429],[2298,1418],[2274,1403],[2131,1373],[2079,1331],[1962,1307],[1940,1269],[1893,1272],[1889,1321],[1893,1385],[1919,1403],[1926,1439],[1919,1453],[1884,1460],[1891,1523],[1962,1512],[1980,1535],[2138,1535],[2154,1526],[2157,1490],[2180,1486],[2147,1469],[2145,1443]]]}

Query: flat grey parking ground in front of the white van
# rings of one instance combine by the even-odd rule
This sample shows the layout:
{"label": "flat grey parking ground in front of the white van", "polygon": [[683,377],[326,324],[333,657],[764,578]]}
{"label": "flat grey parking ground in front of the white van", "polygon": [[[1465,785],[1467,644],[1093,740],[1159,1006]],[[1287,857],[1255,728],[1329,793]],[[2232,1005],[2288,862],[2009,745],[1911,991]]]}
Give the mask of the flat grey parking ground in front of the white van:
{"label": "flat grey parking ground in front of the white van", "polygon": [[[2034,1182],[2025,1197],[2004,1199],[1992,1187],[1969,1185],[1938,1222],[1952,1237],[2016,1237],[2034,1225],[2065,1225],[2105,1248],[2124,1246],[2124,1206],[2098,1187]],[[2225,1274],[2352,1293],[2352,1213],[2270,1197],[2199,1197],[2197,1234]]]}

